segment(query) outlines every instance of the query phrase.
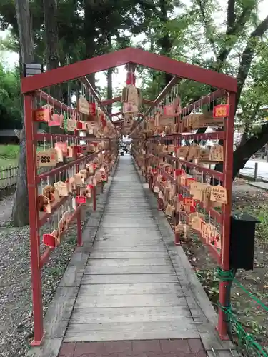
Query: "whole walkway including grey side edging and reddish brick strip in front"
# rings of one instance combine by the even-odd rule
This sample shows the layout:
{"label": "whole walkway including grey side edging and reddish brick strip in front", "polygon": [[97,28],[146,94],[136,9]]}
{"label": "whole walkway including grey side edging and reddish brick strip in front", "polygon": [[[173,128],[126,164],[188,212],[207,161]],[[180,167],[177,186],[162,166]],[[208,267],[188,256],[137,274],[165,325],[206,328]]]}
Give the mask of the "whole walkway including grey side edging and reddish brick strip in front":
{"label": "whole walkway including grey side edging and reddish brick strip in front", "polygon": [[120,158],[107,186],[106,201],[99,198],[104,201],[84,231],[89,238],[74,253],[47,313],[50,343],[31,356],[231,356],[130,156]]}

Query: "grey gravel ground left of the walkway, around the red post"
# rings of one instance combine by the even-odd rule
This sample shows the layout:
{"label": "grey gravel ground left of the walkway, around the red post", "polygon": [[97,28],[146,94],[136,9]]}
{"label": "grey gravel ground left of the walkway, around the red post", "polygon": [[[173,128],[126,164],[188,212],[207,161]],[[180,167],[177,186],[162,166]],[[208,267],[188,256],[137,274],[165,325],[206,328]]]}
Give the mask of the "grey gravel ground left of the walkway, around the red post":
{"label": "grey gravel ground left of the walkway, around the red post", "polygon": [[[0,356],[22,357],[26,356],[33,336],[29,226],[14,228],[4,223],[10,218],[11,203],[10,197],[0,201]],[[84,208],[84,224],[90,214],[91,209]],[[44,313],[71,259],[75,243],[76,225],[71,226],[42,270]]]}

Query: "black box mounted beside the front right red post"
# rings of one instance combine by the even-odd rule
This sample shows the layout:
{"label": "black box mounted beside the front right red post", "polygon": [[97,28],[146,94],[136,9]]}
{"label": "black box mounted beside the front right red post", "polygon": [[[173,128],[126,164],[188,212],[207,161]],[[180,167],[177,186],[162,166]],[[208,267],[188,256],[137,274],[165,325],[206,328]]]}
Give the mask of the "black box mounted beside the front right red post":
{"label": "black box mounted beside the front right red post", "polygon": [[259,223],[259,221],[247,213],[232,213],[229,251],[230,268],[253,270],[256,223]]}

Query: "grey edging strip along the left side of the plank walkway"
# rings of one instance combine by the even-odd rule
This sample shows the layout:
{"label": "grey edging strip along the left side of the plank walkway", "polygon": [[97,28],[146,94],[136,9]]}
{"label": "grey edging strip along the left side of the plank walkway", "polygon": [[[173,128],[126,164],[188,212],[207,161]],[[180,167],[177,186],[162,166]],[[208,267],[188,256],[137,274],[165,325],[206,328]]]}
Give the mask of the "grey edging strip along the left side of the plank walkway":
{"label": "grey edging strip along the left side of the plank walkway", "polygon": [[79,292],[81,278],[104,213],[118,161],[117,159],[108,183],[104,186],[104,192],[96,196],[96,211],[92,211],[89,221],[84,227],[82,235],[83,246],[76,247],[64,276],[61,278],[58,288],[56,288],[54,299],[46,311],[44,317],[44,330],[46,331],[44,342],[40,347],[31,348],[27,354],[28,357],[57,357],[59,354]]}

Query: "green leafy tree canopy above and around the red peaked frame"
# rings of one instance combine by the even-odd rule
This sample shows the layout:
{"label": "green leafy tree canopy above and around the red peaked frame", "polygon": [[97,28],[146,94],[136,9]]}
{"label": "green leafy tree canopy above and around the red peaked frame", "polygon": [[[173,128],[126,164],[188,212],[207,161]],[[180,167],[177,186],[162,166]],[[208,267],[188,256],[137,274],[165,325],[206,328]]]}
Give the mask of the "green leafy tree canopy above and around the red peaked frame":
{"label": "green leafy tree canopy above and around the red peaked frame", "polygon": [[[250,147],[247,157],[243,154],[243,158],[237,158],[241,166],[254,154],[252,151],[268,140],[268,124],[264,121],[264,107],[268,105],[268,16],[259,19],[259,4],[259,0],[191,0],[187,4],[179,0],[31,0],[34,56],[48,69],[55,68],[130,46],[134,36],[143,34],[136,46],[237,77],[237,124],[244,128],[242,144],[247,142]],[[1,1],[0,28],[10,30],[9,39],[2,41],[2,46],[21,55],[13,0]],[[169,74],[139,68],[138,71],[144,96],[150,99],[169,81]],[[110,89],[99,88],[108,97],[113,94],[111,73],[107,72]],[[11,109],[8,102],[18,93],[19,84],[9,90],[4,84],[18,82],[18,72],[1,67],[1,76],[5,76],[5,81],[0,82],[1,96],[5,97],[1,116],[11,119],[15,112],[21,118],[17,114],[21,110],[19,99]],[[91,81],[95,84],[94,76]],[[202,84],[182,81],[183,104],[211,90]],[[61,91],[57,95],[66,97],[66,84]],[[71,91],[76,91],[76,86]],[[258,146],[251,146],[252,137],[258,138]]]}

